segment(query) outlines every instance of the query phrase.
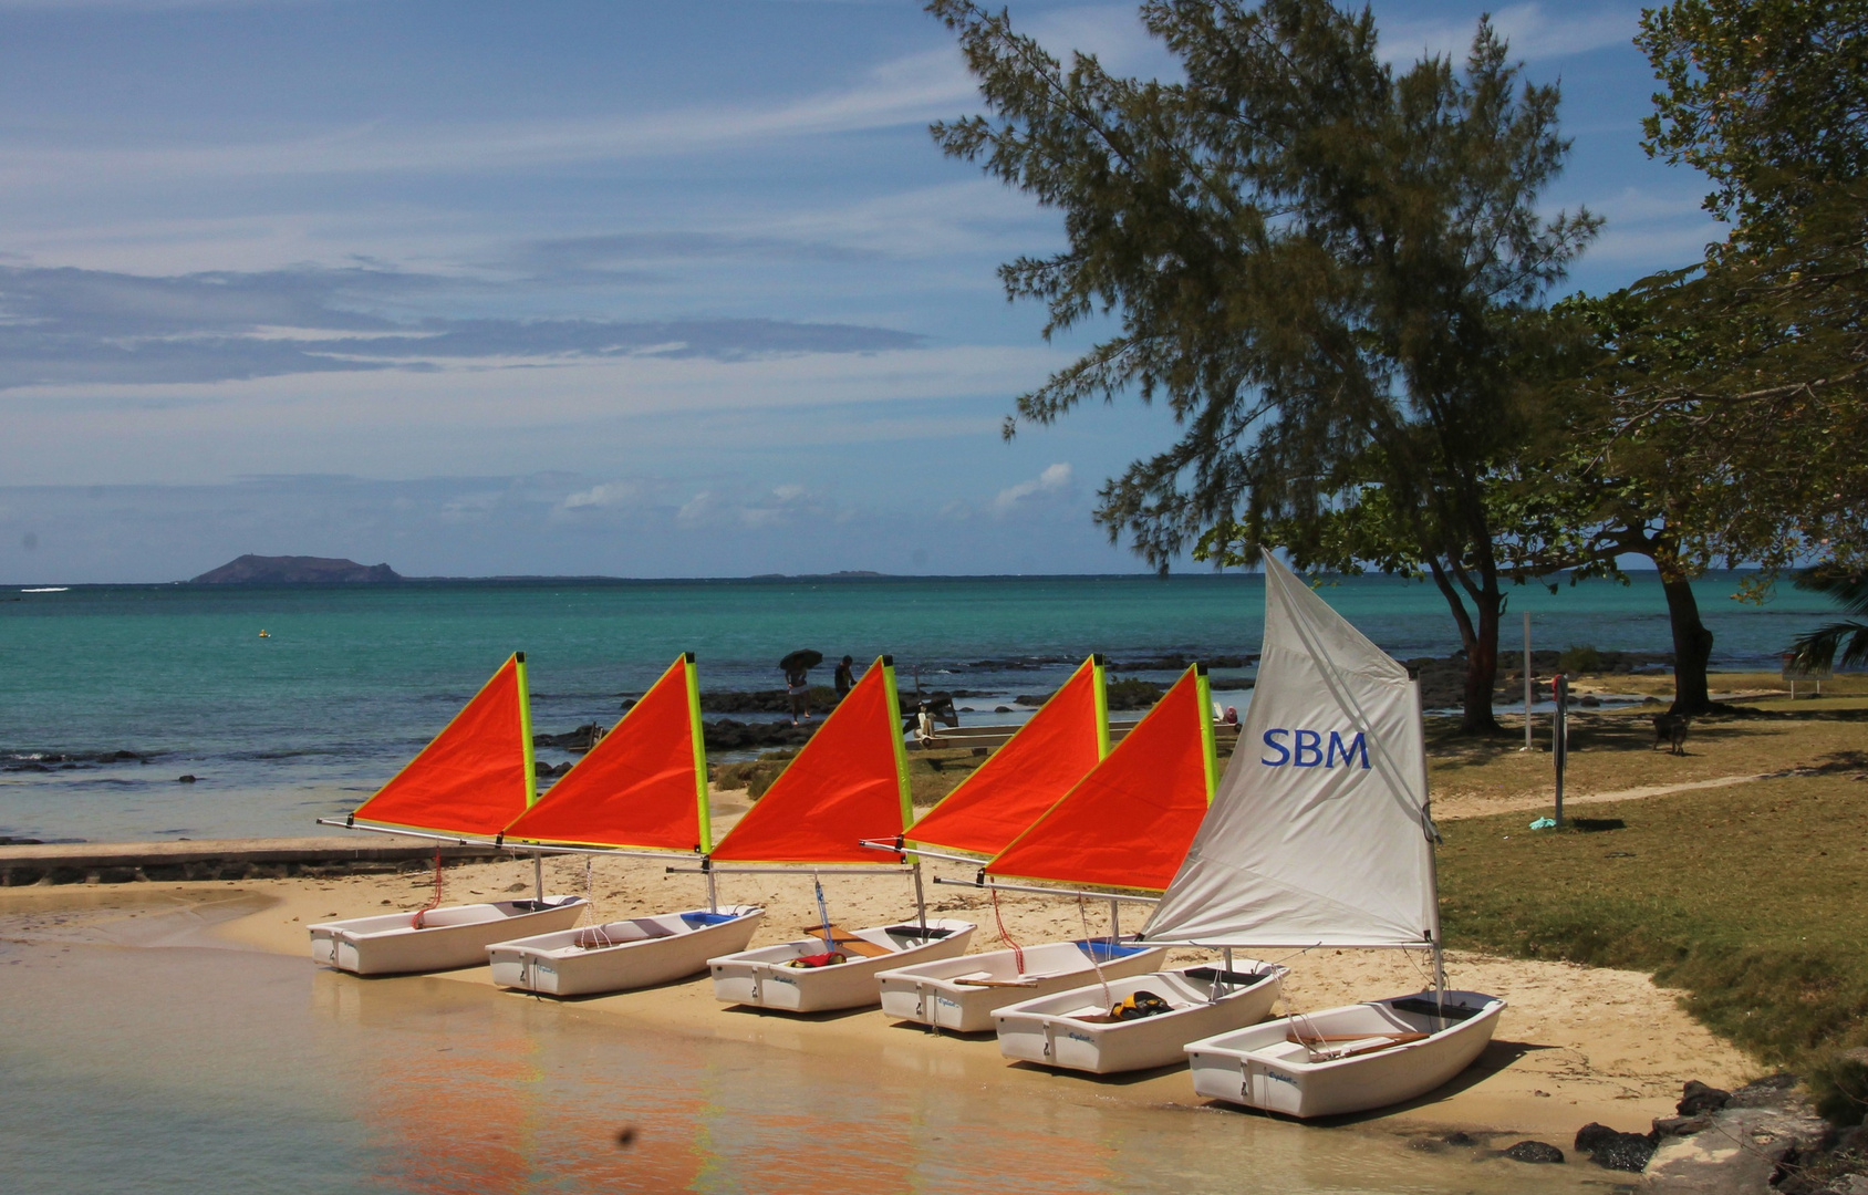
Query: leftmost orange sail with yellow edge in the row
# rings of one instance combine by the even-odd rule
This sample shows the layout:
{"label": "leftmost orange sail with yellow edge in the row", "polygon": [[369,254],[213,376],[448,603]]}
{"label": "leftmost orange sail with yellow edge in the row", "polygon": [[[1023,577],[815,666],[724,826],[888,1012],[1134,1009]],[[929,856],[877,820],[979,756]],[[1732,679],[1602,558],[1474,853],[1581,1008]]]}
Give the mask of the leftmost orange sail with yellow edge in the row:
{"label": "leftmost orange sail with yellow edge in the row", "polygon": [[536,794],[525,652],[517,652],[446,730],[357,808],[355,818],[493,836],[525,812]]}

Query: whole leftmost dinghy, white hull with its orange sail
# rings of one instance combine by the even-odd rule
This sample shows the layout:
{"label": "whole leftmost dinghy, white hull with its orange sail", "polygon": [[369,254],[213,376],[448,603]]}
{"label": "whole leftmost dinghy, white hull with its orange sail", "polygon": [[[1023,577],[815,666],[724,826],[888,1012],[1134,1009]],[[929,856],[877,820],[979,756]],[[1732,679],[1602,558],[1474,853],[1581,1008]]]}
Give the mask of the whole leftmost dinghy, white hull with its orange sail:
{"label": "whole leftmost dinghy, white hull with its orange sail", "polygon": [[[536,799],[525,654],[517,652],[346,823],[435,838],[493,838]],[[377,913],[308,926],[312,960],[355,975],[473,967],[486,962],[486,949],[495,941],[568,930],[587,907],[583,896],[544,893],[532,900],[437,907],[439,855],[435,872],[437,900],[415,913]]]}

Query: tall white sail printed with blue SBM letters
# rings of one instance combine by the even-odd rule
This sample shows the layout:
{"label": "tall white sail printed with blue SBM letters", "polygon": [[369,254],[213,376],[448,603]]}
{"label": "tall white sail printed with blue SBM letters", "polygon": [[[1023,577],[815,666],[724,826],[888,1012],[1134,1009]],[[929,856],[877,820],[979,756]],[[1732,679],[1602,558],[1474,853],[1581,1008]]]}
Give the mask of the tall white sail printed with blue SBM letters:
{"label": "tall white sail printed with blue SBM letters", "polygon": [[1431,836],[1418,687],[1267,556],[1238,747],[1143,941],[1431,945]]}

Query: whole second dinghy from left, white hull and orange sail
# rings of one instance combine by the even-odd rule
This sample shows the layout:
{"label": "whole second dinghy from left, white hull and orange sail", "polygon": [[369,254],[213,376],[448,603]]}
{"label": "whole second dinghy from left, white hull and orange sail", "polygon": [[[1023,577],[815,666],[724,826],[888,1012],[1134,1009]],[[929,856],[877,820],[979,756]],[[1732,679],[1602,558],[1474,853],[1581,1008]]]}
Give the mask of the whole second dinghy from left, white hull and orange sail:
{"label": "whole second dinghy from left, white hull and orange sail", "polygon": [[[712,816],[700,730],[700,682],[689,652],[506,827],[506,842],[704,857]],[[486,954],[501,988],[626,991],[706,971],[708,958],[743,950],[764,919],[758,906],[710,906],[517,937]]]}

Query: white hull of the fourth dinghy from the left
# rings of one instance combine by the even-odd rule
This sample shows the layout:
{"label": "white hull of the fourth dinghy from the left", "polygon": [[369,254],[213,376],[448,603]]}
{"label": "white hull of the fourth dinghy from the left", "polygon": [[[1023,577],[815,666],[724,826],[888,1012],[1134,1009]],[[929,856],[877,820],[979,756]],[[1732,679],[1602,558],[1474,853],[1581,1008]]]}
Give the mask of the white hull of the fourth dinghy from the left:
{"label": "white hull of the fourth dinghy from the left", "polygon": [[[1168,954],[1162,947],[1134,945],[1119,945],[1110,952],[1108,941],[1097,941],[1095,949],[1104,978],[1154,971]],[[897,967],[876,977],[885,1016],[955,1033],[990,1033],[992,1014],[1005,1005],[1082,988],[1095,978],[1089,949],[1076,941],[1026,947],[1024,971],[1018,969],[1016,950],[988,950]]]}

